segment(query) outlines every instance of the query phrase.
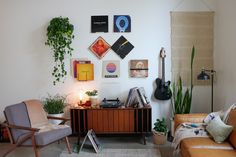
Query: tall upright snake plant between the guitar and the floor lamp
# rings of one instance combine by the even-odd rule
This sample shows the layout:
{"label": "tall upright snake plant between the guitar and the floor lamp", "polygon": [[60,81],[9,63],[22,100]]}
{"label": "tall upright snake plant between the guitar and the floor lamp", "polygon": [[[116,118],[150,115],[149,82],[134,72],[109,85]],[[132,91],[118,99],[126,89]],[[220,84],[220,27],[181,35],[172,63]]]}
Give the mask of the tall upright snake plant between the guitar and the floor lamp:
{"label": "tall upright snake plant between the guitar and the floor lamp", "polygon": [[[173,115],[190,113],[193,92],[193,61],[195,56],[195,47],[192,47],[190,64],[190,89],[187,87],[184,91],[181,76],[178,82],[172,84],[172,109]],[[171,118],[171,135],[174,136],[174,119]]]}

